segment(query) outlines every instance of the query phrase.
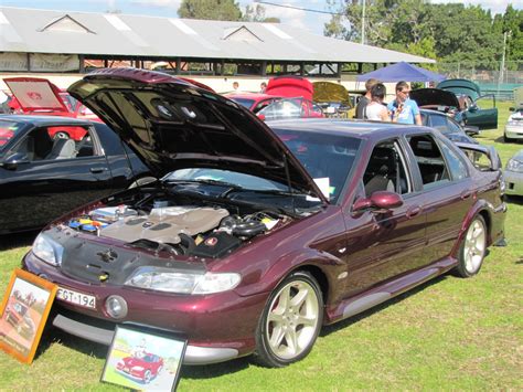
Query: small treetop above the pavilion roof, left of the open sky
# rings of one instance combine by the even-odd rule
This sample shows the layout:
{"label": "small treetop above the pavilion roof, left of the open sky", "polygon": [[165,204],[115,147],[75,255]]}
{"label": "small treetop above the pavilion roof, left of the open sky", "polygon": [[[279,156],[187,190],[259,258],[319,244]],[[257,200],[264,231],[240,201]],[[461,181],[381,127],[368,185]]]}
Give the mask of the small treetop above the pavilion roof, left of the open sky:
{"label": "small treetop above the pavilion roof, left of the open sky", "polygon": [[182,0],[178,15],[186,19],[242,20],[242,11],[234,0]]}

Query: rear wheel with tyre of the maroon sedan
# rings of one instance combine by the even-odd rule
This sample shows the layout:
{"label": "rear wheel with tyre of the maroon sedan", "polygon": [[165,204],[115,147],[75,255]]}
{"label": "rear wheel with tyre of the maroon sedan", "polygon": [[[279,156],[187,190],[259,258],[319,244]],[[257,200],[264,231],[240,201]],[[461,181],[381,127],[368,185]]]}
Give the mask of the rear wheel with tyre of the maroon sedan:
{"label": "rear wheel with tyre of the maroon sedan", "polygon": [[471,277],[479,273],[487,252],[487,224],[481,215],[476,215],[461,241],[456,274]]}

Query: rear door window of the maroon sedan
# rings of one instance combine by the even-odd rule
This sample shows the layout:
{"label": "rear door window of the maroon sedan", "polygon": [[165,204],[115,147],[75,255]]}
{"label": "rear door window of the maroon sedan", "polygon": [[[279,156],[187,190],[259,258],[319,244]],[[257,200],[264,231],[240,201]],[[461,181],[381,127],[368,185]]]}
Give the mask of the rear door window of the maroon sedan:
{"label": "rear door window of the maroon sedan", "polygon": [[449,171],[441,151],[431,135],[407,137],[421,174],[424,189],[449,181]]}

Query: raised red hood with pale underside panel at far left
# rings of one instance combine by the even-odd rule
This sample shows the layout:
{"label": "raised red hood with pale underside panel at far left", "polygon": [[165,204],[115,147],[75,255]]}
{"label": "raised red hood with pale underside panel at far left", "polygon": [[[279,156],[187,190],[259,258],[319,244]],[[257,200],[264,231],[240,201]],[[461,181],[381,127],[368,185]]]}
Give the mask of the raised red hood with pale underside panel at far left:
{"label": "raised red hood with pale underside panel at far left", "polygon": [[3,82],[11,89],[23,112],[68,113],[60,97],[60,88],[46,78],[6,77]]}

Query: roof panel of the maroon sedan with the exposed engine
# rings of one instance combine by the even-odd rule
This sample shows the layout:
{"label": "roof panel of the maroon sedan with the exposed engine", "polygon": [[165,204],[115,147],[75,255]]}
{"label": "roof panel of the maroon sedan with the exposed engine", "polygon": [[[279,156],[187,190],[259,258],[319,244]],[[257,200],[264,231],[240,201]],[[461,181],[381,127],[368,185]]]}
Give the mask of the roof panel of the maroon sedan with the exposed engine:
{"label": "roof panel of the maroon sedan with the exposed engine", "polygon": [[340,118],[289,118],[267,121],[267,125],[273,129],[320,131],[322,134],[352,136],[361,139],[382,138],[383,136],[393,137],[405,131],[413,133],[420,129],[426,131],[430,129],[405,124]]}

